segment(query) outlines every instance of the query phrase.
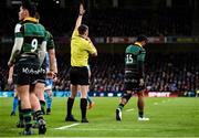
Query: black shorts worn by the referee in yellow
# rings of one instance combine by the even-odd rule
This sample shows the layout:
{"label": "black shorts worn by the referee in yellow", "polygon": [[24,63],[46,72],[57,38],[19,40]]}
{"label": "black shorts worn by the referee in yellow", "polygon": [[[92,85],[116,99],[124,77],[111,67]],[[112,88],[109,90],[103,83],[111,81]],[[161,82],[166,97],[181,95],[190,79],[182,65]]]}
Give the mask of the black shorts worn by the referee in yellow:
{"label": "black shorts worn by the referee in yellow", "polygon": [[86,66],[72,66],[70,71],[72,85],[90,85],[88,70]]}

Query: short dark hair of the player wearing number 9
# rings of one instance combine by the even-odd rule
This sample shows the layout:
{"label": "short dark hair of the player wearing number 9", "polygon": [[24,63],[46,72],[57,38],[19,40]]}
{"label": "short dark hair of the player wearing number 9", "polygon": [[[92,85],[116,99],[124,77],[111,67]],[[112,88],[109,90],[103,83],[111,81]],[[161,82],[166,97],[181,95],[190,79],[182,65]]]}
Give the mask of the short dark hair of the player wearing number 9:
{"label": "short dark hair of the player wearing number 9", "polygon": [[31,2],[29,0],[22,0],[22,8],[29,11],[30,17],[35,17],[36,14],[36,3]]}

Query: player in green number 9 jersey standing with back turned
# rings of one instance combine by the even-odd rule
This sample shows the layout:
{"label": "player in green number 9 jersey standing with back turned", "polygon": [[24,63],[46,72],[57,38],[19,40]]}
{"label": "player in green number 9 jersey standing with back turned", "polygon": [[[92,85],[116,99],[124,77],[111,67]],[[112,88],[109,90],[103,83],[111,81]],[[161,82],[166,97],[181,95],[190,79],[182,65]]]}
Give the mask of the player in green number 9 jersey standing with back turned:
{"label": "player in green number 9 jersey standing with back turned", "polygon": [[45,134],[46,127],[39,99],[34,93],[39,68],[45,56],[45,29],[38,23],[36,7],[30,1],[22,1],[19,11],[20,23],[14,29],[14,45],[8,62],[14,64],[15,84],[21,99],[21,112],[24,119],[24,131],[21,135],[32,135],[31,112],[34,109],[39,121],[39,134]]}

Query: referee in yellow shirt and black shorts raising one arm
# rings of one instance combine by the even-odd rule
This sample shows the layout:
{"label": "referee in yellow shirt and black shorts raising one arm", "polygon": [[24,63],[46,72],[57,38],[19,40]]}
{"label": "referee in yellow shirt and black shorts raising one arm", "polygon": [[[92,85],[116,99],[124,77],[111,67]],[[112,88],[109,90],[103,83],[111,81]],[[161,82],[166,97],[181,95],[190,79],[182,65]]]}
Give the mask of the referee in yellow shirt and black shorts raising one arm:
{"label": "referee in yellow shirt and black shorts raising one arm", "polygon": [[88,26],[82,24],[85,13],[83,4],[80,4],[80,13],[71,39],[71,97],[67,99],[67,115],[65,121],[77,121],[72,115],[77,89],[81,92],[82,123],[88,123],[86,118],[87,92],[88,92],[88,55],[97,56],[97,51],[88,38]]}

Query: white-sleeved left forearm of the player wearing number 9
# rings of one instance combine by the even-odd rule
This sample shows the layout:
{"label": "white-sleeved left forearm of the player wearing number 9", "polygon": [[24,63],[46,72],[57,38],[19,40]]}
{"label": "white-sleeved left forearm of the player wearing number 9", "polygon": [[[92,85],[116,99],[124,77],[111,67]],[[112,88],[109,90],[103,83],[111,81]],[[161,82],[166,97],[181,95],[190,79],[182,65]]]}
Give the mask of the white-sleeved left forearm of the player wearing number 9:
{"label": "white-sleeved left forearm of the player wearing number 9", "polygon": [[14,40],[14,45],[12,47],[12,53],[11,53],[9,63],[13,63],[14,60],[19,56],[19,54],[21,52],[22,44],[23,44],[23,38],[17,38]]}

